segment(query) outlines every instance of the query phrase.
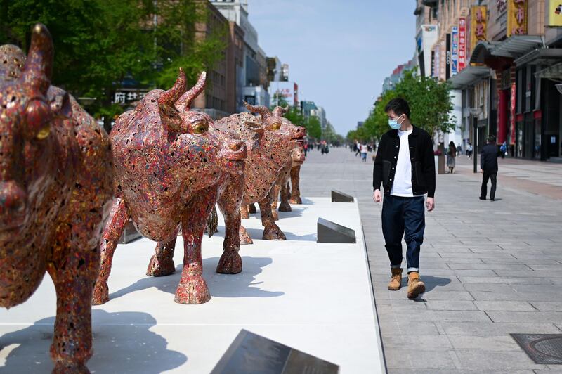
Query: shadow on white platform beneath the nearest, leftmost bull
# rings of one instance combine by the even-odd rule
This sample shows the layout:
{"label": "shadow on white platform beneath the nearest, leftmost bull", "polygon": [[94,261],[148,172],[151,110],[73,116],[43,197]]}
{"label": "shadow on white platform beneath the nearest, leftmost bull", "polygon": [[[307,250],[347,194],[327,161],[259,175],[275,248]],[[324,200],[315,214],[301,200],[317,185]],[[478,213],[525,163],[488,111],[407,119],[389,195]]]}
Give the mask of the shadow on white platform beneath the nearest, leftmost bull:
{"label": "shadow on white platform beneath the nearest, leftmost bull", "polygon": [[[92,373],[162,373],[183,365],[188,357],[167,349],[164,337],[149,329],[156,325],[150,314],[107,313],[94,309]],[[1,337],[0,348],[15,347],[0,373],[51,373],[49,354],[55,317],[43,318],[22,330]]]}

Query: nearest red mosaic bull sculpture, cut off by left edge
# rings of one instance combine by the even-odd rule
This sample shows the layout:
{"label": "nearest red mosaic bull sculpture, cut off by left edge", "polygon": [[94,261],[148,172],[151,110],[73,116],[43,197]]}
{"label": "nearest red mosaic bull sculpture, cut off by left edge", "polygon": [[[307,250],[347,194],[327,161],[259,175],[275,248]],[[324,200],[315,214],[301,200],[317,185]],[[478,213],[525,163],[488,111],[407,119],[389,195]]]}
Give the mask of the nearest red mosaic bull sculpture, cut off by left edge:
{"label": "nearest red mosaic bull sculpture, cut off by left edge", "polygon": [[[24,65],[25,61],[25,65]],[[54,373],[88,373],[91,297],[112,197],[110,142],[51,86],[53,41],[0,47],[0,306],[25,302],[48,272],[57,295]]]}

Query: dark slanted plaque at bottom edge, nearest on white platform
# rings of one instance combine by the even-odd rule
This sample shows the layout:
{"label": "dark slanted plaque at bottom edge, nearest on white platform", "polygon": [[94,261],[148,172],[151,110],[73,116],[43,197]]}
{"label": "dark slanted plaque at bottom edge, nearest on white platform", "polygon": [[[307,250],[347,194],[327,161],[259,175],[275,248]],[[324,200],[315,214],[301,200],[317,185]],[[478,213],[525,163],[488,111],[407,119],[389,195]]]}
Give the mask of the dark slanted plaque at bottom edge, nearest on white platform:
{"label": "dark slanted plaque at bottom edge, nearest on white platform", "polygon": [[339,366],[241,330],[211,374],[336,374]]}

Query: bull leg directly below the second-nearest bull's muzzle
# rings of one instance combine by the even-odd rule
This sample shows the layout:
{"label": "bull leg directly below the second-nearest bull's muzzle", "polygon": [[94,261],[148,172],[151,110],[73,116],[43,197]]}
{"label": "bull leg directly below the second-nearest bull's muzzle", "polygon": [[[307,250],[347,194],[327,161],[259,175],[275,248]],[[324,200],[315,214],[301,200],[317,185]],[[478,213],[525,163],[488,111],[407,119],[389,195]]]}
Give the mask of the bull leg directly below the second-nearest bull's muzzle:
{"label": "bull leg directly below the second-nearest bull's muzzle", "polygon": [[[218,208],[223,212],[225,222],[225,236],[223,242],[223,255],[216,266],[217,273],[237,274],[242,271],[242,258],[240,250],[240,204],[242,203],[243,177],[230,176],[226,190],[218,199]],[[240,181],[240,179],[242,179]]]}

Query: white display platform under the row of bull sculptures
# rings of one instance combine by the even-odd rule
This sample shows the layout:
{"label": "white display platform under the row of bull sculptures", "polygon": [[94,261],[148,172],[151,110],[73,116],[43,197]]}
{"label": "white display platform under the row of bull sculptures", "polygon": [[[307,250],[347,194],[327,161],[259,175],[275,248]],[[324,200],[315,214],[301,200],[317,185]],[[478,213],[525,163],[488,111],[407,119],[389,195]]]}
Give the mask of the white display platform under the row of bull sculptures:
{"label": "white display platform under the row of bull sculptures", "polygon": [[[176,273],[145,276],[155,243],[119,245],[110,301],[93,307],[92,373],[209,373],[242,328],[336,363],[341,373],[384,373],[377,317],[356,202],[305,199],[280,212],[287,241],[261,240],[259,214],[243,220],[254,245],[240,250],[243,271],[215,273],[224,226],[203,240],[211,301],[174,302]],[[316,243],[318,217],[355,230],[356,244]],[[55,290],[46,276],[25,304],[0,309],[0,372],[50,373]]]}

